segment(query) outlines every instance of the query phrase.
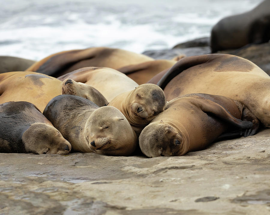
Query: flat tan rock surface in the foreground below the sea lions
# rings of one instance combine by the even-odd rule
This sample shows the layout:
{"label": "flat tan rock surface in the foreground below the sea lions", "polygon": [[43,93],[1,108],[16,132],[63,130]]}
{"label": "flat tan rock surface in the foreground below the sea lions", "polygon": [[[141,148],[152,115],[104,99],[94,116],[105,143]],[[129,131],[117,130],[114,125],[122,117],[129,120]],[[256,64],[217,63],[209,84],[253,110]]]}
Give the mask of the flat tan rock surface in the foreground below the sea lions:
{"label": "flat tan rock surface in the foreground below the sea lions", "polygon": [[2,153],[0,214],[270,214],[270,129],[181,157]]}

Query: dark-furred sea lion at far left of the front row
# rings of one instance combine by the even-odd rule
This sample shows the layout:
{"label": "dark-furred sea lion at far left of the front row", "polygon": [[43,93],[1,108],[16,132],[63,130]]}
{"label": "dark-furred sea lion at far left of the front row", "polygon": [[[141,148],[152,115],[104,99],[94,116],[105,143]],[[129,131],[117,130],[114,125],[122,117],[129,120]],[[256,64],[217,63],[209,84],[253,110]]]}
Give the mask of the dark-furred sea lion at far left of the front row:
{"label": "dark-furred sea lion at far left of the front row", "polygon": [[0,104],[0,152],[66,155],[70,143],[29,102]]}

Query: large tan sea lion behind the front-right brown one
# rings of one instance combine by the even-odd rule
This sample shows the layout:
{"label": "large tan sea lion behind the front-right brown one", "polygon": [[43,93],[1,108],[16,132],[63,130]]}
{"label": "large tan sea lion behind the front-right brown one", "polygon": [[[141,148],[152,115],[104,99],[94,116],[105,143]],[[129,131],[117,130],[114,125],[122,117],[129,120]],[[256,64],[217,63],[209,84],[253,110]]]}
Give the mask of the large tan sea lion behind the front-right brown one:
{"label": "large tan sea lion behind the front-right brown one", "polygon": [[167,100],[189,93],[238,100],[270,127],[270,77],[244,58],[228,54],[185,57],[170,68],[158,86]]}

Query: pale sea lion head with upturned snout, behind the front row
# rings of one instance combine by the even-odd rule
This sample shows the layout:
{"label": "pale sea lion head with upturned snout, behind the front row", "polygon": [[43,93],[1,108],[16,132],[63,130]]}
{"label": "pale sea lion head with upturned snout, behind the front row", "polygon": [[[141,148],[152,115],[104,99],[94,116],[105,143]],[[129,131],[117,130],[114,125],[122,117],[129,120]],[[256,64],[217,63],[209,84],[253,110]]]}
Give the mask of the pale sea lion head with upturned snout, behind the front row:
{"label": "pale sea lion head with upturned snout, behind the front row", "polygon": [[70,94],[86,98],[97,104],[99,107],[108,104],[107,99],[97,89],[88,84],[76,82],[72,79],[65,79],[62,82],[62,94]]}

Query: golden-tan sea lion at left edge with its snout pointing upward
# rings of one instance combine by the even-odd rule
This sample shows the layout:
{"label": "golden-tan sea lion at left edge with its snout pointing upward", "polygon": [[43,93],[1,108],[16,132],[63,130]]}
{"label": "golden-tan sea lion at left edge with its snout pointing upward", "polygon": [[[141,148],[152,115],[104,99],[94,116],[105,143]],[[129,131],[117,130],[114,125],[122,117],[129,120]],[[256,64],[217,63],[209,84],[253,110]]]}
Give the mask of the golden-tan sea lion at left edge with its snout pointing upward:
{"label": "golden-tan sea lion at left edge with its snout pointing upward", "polygon": [[[0,74],[0,103],[9,101],[27,101],[35,104],[41,111],[55,96],[61,94],[64,83],[48,75],[36,72],[7,72]],[[73,83],[73,91],[64,93],[78,94],[91,99],[99,105],[107,104],[106,99],[88,85]],[[91,94],[93,93],[93,94]]]}

